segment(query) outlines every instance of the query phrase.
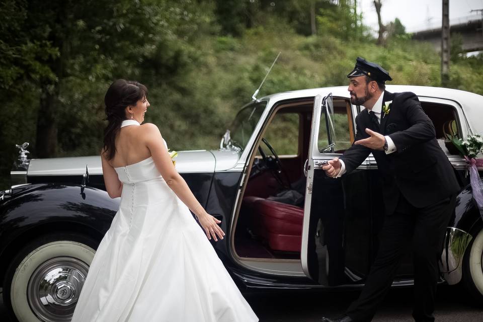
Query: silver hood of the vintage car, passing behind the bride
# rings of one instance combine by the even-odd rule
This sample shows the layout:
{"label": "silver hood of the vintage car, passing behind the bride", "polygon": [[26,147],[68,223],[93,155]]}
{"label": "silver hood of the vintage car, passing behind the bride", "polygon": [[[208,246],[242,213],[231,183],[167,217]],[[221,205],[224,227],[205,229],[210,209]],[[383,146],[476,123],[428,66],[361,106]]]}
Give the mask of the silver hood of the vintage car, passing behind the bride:
{"label": "silver hood of the vintage car, passing behind the bride", "polygon": [[[238,161],[238,153],[230,150],[178,151],[175,160],[179,173],[207,173],[233,168]],[[102,175],[99,155],[31,159],[27,175],[82,176],[86,173],[86,166],[89,167],[90,175]]]}

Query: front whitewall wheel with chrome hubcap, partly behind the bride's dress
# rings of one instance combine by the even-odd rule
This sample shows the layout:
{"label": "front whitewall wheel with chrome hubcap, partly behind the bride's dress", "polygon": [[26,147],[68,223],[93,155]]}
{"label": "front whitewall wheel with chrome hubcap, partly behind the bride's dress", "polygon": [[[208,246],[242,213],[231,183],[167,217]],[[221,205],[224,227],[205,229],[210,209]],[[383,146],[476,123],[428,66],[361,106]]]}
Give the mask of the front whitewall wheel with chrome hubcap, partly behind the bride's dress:
{"label": "front whitewall wheel with chrome hubcap, partly behind the bride's dress", "polygon": [[19,322],[70,321],[98,243],[58,234],[29,243],[12,260],[4,303]]}

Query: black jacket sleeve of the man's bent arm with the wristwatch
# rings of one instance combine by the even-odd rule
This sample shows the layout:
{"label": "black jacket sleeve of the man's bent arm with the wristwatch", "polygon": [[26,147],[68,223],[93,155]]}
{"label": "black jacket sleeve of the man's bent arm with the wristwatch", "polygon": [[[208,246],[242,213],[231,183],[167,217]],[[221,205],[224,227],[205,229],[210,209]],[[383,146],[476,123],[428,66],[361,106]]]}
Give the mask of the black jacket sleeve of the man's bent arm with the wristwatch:
{"label": "black jacket sleeve of the man's bent arm with the wristwatch", "polygon": [[413,93],[407,93],[402,100],[399,106],[403,111],[403,117],[406,117],[410,126],[404,131],[389,135],[398,153],[403,153],[414,144],[426,142],[436,137],[433,122],[424,113],[418,97]]}

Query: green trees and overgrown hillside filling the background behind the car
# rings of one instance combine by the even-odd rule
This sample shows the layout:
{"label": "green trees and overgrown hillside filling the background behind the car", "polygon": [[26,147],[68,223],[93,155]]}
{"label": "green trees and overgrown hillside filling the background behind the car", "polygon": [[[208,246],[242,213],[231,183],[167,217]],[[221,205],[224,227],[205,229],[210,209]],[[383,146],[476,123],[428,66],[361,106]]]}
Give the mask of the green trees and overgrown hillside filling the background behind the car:
{"label": "green trees and overgrown hillside filling the background behind the car", "polygon": [[[0,190],[8,186],[14,145],[37,144],[46,93],[55,96],[58,155],[74,156],[99,153],[104,94],[121,77],[148,87],[146,121],[158,125],[175,150],[217,148],[279,51],[259,98],[347,85],[357,56],[389,70],[391,84],[441,84],[440,56],[432,45],[411,40],[399,28],[386,46],[377,46],[354,2],[336,6],[316,0],[315,36],[306,36],[310,0],[229,3],[239,5],[243,19],[230,21],[229,10],[220,11],[221,0],[1,2]],[[451,63],[450,87],[483,94],[482,73],[483,57],[458,55]]]}

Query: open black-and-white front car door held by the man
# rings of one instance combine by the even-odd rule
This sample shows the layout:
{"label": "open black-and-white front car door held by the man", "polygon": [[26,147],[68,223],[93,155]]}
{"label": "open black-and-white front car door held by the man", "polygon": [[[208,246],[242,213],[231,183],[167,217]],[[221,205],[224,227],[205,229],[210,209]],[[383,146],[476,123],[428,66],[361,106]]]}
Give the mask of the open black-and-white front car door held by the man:
{"label": "open black-and-white front car door held by the man", "polygon": [[[335,100],[339,106],[350,107],[348,98]],[[337,136],[345,131],[338,127],[345,122],[349,132],[353,131],[350,110],[345,115],[343,108],[334,113],[330,93],[314,99],[305,166],[301,262],[308,277],[327,286],[360,283],[368,272],[373,247],[369,158],[341,178],[330,178],[322,170],[325,162],[342,155],[339,145],[344,140]]]}

